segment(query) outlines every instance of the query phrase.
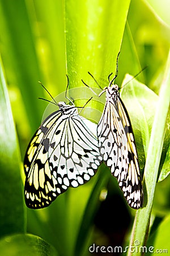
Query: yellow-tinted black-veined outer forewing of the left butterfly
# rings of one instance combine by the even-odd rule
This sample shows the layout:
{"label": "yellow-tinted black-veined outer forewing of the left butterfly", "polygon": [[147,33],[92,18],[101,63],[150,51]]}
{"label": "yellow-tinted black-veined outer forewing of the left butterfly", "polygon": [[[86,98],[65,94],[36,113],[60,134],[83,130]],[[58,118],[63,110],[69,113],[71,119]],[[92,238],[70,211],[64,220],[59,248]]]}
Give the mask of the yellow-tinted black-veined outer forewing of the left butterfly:
{"label": "yellow-tinted black-veined outer forewing of the left butterfly", "polygon": [[59,118],[61,118],[59,111],[49,115],[28,145],[24,158],[26,175],[24,194],[25,203],[29,208],[47,207],[57,197],[57,181],[49,169],[48,151],[45,149],[44,139]]}

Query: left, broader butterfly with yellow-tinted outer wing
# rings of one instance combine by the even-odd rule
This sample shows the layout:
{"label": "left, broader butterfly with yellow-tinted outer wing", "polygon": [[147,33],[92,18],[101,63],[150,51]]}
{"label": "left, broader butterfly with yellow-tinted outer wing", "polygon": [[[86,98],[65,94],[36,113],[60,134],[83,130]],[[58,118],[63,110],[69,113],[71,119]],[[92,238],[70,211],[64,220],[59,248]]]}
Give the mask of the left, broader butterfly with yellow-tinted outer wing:
{"label": "left, broader butterfly with yellow-tinted outer wing", "polygon": [[[68,85],[67,85],[68,86]],[[27,207],[48,207],[69,187],[94,176],[102,160],[94,123],[78,114],[75,105],[56,102],[59,110],[41,123],[24,158]]]}

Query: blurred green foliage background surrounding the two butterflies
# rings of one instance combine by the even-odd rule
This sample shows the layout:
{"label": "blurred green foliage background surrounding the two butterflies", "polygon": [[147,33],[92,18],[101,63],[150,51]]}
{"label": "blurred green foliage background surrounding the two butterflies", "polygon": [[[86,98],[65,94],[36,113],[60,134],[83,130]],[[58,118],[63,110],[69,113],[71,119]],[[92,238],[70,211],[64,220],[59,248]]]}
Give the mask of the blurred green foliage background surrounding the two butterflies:
{"label": "blurred green foliage background surrounding the two butterflies", "polygon": [[[49,99],[38,81],[55,97],[66,89],[66,74],[70,88],[84,86],[81,79],[96,87],[90,71],[104,87],[121,51],[120,87],[126,73],[135,76],[147,66],[136,78],[147,87],[134,80],[135,89],[129,83],[122,92],[143,174],[168,59],[169,13],[167,0],[0,0],[1,255],[89,255],[93,243],[129,244],[135,210],[104,164],[87,184],[68,189],[50,207],[30,210],[23,199],[23,158],[47,105],[38,97]],[[77,104],[86,98],[79,95]],[[96,101],[90,106],[99,108]],[[169,119],[166,127],[163,181],[156,185],[148,245],[170,251]]]}

